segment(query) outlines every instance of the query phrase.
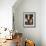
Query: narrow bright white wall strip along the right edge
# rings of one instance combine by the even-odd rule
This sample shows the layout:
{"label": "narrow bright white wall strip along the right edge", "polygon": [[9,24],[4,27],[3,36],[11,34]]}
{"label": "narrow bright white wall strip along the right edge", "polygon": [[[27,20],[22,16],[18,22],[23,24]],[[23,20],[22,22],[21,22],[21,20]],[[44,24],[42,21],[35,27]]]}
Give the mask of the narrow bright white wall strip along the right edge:
{"label": "narrow bright white wall strip along the right edge", "polygon": [[42,46],[46,46],[46,0],[41,1],[41,39]]}

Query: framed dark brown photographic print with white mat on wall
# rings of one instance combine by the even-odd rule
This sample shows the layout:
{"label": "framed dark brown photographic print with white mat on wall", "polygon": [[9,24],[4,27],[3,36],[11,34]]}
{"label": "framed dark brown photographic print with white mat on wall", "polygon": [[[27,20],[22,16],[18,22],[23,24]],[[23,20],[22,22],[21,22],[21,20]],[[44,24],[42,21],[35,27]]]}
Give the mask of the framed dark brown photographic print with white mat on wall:
{"label": "framed dark brown photographic print with white mat on wall", "polygon": [[23,22],[24,27],[36,27],[36,13],[24,12]]}

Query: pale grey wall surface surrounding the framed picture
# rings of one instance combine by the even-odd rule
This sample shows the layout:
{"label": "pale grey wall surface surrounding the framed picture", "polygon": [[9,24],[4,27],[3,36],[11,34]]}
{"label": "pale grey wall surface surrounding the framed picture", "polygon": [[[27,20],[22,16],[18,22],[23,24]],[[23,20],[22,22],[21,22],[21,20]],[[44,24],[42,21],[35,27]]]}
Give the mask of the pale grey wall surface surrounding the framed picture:
{"label": "pale grey wall surface surrounding the framed picture", "polygon": [[[36,27],[24,28],[23,26],[23,12],[36,12]],[[41,46],[41,30],[40,30],[40,16],[41,16],[41,1],[40,0],[23,0],[17,7],[13,7],[15,28],[18,32],[23,33],[26,39],[34,40],[36,46]]]}

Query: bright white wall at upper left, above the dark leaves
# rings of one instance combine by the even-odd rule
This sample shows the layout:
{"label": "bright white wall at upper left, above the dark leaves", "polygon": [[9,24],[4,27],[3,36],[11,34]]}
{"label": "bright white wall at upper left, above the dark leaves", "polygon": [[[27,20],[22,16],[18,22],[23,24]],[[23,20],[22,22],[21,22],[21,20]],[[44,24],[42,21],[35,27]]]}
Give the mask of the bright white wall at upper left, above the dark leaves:
{"label": "bright white wall at upper left, above the dark leaves", "polygon": [[16,0],[0,0],[0,27],[12,28],[12,6]]}

